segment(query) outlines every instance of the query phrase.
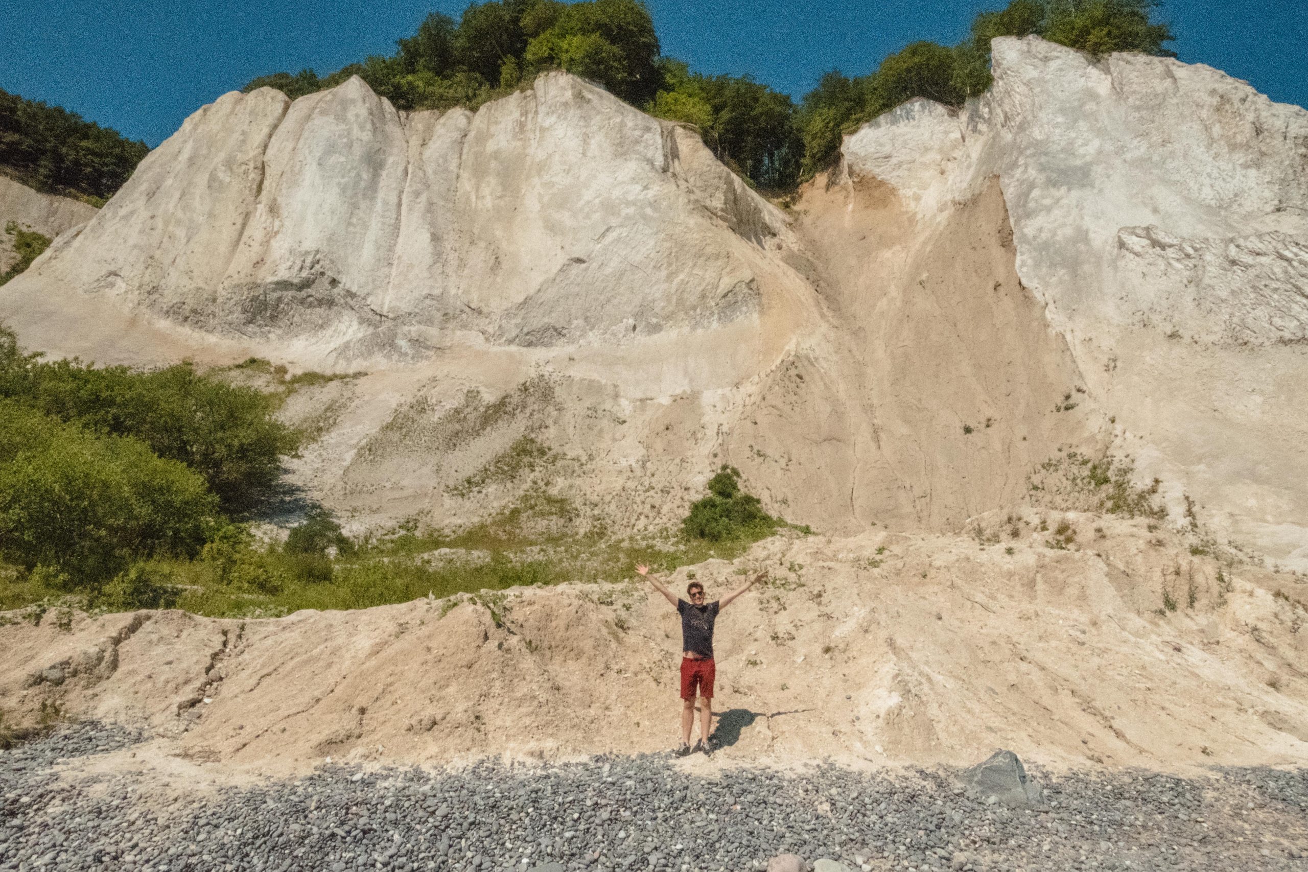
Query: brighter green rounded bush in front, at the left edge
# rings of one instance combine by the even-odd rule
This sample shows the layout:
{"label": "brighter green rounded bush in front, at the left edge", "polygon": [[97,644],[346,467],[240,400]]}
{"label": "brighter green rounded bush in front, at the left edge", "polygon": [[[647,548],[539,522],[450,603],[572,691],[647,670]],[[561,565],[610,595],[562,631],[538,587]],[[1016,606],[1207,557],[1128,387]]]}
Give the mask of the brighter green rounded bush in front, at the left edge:
{"label": "brighter green rounded bush in front, at the left edge", "polygon": [[0,557],[94,587],[135,558],[192,556],[218,516],[204,478],[137,439],[0,400]]}

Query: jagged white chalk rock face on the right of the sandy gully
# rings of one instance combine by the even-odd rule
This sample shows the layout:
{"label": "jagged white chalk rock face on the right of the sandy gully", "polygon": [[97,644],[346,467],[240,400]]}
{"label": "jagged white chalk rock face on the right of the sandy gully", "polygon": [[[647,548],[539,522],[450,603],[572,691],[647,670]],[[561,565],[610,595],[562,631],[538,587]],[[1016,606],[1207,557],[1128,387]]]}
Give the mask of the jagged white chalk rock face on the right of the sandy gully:
{"label": "jagged white chalk rock face on the right of the sandy gully", "polygon": [[[1022,282],[1118,447],[1308,566],[1308,111],[1203,65],[993,43],[995,84],[846,137],[853,179],[938,224],[998,178]],[[1199,511],[1203,515],[1203,511]]]}

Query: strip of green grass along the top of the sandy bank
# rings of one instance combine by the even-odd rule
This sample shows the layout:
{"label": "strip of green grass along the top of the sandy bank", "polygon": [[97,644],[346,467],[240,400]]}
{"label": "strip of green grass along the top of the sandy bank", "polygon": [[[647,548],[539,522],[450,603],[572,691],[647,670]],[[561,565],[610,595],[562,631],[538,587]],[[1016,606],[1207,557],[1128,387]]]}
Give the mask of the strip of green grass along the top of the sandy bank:
{"label": "strip of green grass along the top of the sandy bank", "polygon": [[[492,620],[506,620],[502,600],[483,591],[549,586],[562,582],[621,582],[633,566],[659,573],[709,558],[735,560],[751,543],[708,541],[680,535],[661,539],[611,540],[587,536],[532,536],[493,526],[455,533],[398,533],[340,549],[297,552],[260,544],[235,527],[207,545],[198,560],[158,558],[133,566],[132,584],[98,600],[73,601],[42,579],[0,573],[0,603],[26,607],[39,622],[59,603],[95,611],[173,607],[211,617],[280,617],[300,609],[360,609],[416,599],[445,599],[438,617],[460,603],[489,608]],[[467,549],[463,556],[432,561],[430,552]],[[473,596],[468,596],[473,595]],[[480,595],[480,596],[477,596]],[[617,618],[623,621],[624,618]]]}

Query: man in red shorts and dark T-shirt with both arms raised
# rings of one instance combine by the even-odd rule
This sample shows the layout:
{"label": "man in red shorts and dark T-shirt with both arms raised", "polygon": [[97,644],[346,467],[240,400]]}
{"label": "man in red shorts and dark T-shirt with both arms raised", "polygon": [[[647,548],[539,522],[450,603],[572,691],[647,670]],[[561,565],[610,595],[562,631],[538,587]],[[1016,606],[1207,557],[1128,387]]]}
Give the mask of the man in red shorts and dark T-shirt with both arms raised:
{"label": "man in red shorts and dark T-shirt with both arms raised", "polygon": [[[676,749],[676,756],[685,757],[696,750],[712,754],[714,743],[709,735],[709,726],[713,719],[713,677],[717,672],[713,663],[713,625],[718,620],[718,612],[761,582],[766,573],[759,573],[714,603],[704,601],[704,584],[691,582],[685,587],[685,595],[691,597],[687,603],[654,578],[649,566],[637,566],[636,571],[647,578],[654,590],[666,596],[681,614],[681,746]],[[692,749],[691,729],[695,727],[696,689],[700,694],[700,741]]]}

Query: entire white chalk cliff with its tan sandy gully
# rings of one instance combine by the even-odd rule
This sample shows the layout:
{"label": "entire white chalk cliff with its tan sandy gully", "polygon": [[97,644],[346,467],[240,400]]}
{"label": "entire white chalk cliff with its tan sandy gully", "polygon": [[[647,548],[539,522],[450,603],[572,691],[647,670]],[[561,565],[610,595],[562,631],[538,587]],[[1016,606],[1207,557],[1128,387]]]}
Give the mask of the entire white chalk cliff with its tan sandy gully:
{"label": "entire white chalk cliff with its tan sandy gully", "polygon": [[[1198,65],[994,42],[782,212],[564,73],[477,112],[361,80],[192,115],[0,289],[34,348],[368,370],[296,475],[362,519],[545,486],[610,524],[718,463],[829,532],[957,528],[1041,461],[1133,456],[1175,523],[1308,567],[1308,111]],[[1066,400],[1065,395],[1074,400]],[[514,439],[548,481],[468,495]]]}

